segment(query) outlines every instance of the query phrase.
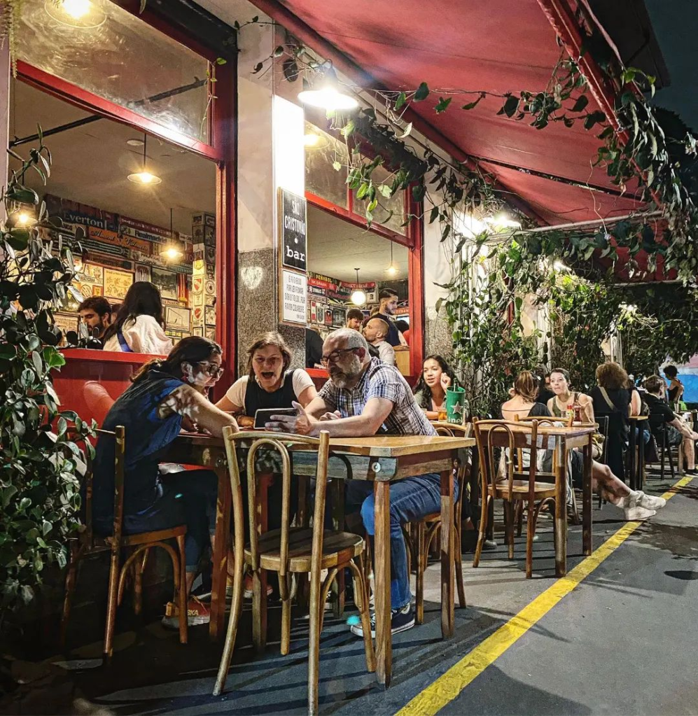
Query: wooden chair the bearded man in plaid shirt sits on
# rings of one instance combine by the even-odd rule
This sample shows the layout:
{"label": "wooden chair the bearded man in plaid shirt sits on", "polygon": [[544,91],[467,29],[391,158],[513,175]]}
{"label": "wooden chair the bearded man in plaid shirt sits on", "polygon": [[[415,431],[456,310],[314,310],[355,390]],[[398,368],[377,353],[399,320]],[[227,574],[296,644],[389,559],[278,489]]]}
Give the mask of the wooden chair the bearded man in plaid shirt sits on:
{"label": "wooden chair the bearded man in plaid shirt sits on", "polygon": [[[437,425],[436,432],[439,435],[447,435],[455,437],[455,432],[459,432],[465,437],[470,437],[472,432],[472,423],[466,425]],[[462,500],[466,499],[465,495],[465,478],[467,475],[467,464],[455,466],[456,480],[458,483],[458,498],[453,505],[453,563],[455,565],[455,584],[458,590],[458,606],[465,609],[465,586],[463,584],[463,563],[461,554],[462,540]],[[409,552],[409,561],[412,562],[416,556],[415,565],[417,567],[417,589],[415,590],[415,621],[422,624],[424,621],[424,574],[429,561],[429,552],[435,536],[441,528],[441,513],[436,512],[427,515],[420,521],[413,522],[412,527],[415,528],[414,536],[407,533],[403,528],[403,536],[407,550]]]}

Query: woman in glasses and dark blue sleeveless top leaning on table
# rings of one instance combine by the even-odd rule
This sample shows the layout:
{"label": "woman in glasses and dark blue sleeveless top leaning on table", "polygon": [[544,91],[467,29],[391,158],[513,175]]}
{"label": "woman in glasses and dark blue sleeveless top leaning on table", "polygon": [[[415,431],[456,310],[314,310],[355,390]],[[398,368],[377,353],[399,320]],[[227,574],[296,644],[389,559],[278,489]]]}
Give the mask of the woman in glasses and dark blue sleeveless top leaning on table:
{"label": "woman in glasses and dark blue sleeveless top leaning on table", "polygon": [[[125,534],[186,524],[186,571],[189,592],[199,560],[213,536],[218,481],[210,470],[160,475],[158,465],[180,428],[199,427],[220,437],[235,419],[212,405],[205,392],[222,372],[220,346],[198,336],[182,339],[164,360],[146,363],[132,385],[107,413],[102,427],[125,427]],[[108,535],[114,523],[114,440],[100,437],[94,456],[92,515],[95,531]],[[163,623],[176,627],[174,605]],[[205,624],[210,611],[197,599],[188,606],[189,624]]]}

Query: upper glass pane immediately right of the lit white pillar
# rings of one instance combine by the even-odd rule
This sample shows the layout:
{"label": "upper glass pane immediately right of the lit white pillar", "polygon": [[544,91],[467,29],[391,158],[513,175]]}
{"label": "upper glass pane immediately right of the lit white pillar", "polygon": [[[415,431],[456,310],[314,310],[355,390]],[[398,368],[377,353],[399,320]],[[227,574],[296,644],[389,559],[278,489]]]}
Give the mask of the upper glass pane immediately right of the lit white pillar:
{"label": "upper glass pane immediately right of the lit white pillar", "polygon": [[[334,169],[332,166],[334,162],[341,164],[341,170]],[[349,150],[346,144],[310,122],[306,122],[306,191],[337,206],[348,208],[346,193],[348,164]]]}

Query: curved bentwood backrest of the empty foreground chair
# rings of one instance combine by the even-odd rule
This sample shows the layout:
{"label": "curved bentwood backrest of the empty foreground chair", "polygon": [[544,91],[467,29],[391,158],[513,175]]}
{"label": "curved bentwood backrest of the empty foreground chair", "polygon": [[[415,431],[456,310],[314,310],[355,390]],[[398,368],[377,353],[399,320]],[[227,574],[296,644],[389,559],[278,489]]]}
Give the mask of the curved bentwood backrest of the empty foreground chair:
{"label": "curved bentwood backrest of the empty foreground chair", "polygon": [[[312,448],[318,453],[315,508],[313,525],[313,549],[321,553],[322,532],[324,529],[324,509],[327,491],[327,458],[329,456],[329,432],[323,430],[320,437],[303,437],[301,435],[274,435],[259,432],[235,432],[232,426],[223,429],[223,439],[226,443],[228,457],[228,472],[231,475],[231,490],[233,493],[233,518],[235,520],[236,538],[238,530],[243,529],[243,504],[241,491],[239,452],[248,448],[246,469],[248,485],[248,512],[250,524],[250,553],[253,569],[259,568],[259,537],[257,514],[257,461],[256,456],[261,448],[268,448],[276,452],[281,458],[281,546],[280,546],[280,576],[285,576],[289,567],[289,529],[291,513],[291,455],[289,450],[304,446]],[[247,445],[243,445],[247,443]],[[319,535],[317,534],[319,531]],[[316,546],[316,538],[318,544]]]}

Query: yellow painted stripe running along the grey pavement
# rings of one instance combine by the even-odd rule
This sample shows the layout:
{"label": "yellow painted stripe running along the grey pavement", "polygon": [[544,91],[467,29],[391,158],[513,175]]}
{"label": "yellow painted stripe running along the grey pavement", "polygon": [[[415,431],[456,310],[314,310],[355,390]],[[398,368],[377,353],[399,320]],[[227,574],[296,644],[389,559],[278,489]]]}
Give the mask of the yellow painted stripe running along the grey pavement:
{"label": "yellow painted stripe running along the grey pavement", "polygon": [[[682,478],[661,496],[668,500],[682,487],[688,485],[692,479],[691,477]],[[569,571],[567,576],[561,577],[546,591],[539,594],[494,634],[478,644],[460,662],[454,664],[445,674],[402,707],[397,712],[397,716],[431,716],[454,700],[475,677],[482,674],[512,644],[523,637],[523,634],[528,632],[528,629],[533,627],[541,617],[553,609],[558,601],[569,594],[606,557],[619,548],[641,524],[641,522],[626,523],[596,551]]]}

